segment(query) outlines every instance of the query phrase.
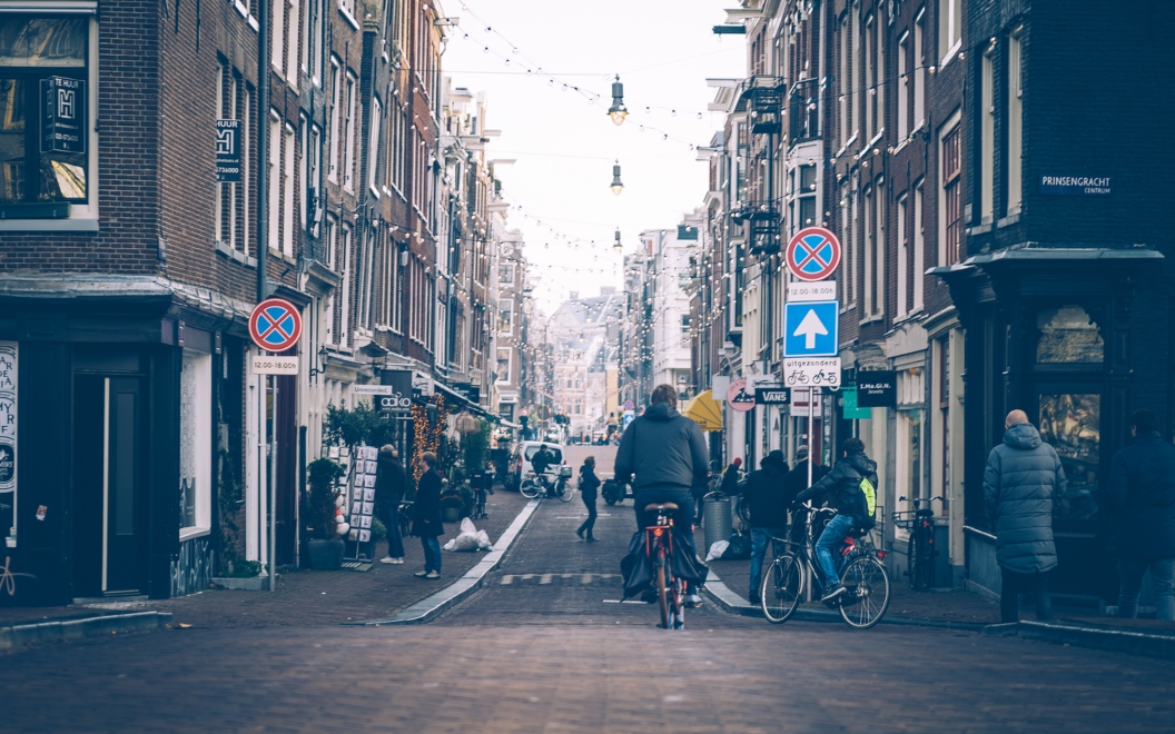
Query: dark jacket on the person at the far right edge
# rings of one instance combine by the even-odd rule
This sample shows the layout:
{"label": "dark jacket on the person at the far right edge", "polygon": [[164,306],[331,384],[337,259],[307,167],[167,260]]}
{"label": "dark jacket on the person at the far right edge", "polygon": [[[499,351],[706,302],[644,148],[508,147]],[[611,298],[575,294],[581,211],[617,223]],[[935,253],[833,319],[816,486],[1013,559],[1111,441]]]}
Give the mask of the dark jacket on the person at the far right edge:
{"label": "dark jacket on the person at the far right edge", "polygon": [[1159,431],[1135,437],[1114,454],[1107,499],[1122,555],[1175,555],[1175,446]]}

